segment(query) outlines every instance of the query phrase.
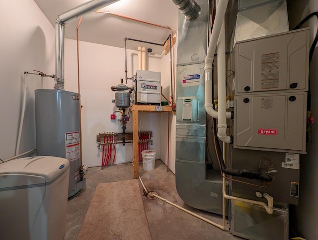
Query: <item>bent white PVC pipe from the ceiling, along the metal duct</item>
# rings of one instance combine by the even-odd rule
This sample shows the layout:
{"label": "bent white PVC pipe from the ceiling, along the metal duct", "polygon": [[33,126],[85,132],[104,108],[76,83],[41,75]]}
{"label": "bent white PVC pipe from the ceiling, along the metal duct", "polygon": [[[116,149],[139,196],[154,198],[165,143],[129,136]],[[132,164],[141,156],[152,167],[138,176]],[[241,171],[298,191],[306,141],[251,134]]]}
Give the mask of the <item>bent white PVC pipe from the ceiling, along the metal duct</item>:
{"label": "bent white PVC pipe from the ceiling, along the metal duct", "polygon": [[[224,21],[225,11],[227,9],[229,0],[220,0],[217,8],[216,15],[214,19],[214,24],[211,32],[210,43],[207,51],[207,56],[205,58],[204,74],[205,74],[205,110],[208,115],[212,118],[218,118],[218,112],[213,109],[213,99],[211,94],[212,89],[212,63],[214,60],[214,53],[217,47],[217,40],[220,35],[222,23]],[[219,85],[219,84],[218,84]],[[218,98],[226,96],[218,96]],[[226,112],[226,118],[231,119],[231,112]]]}

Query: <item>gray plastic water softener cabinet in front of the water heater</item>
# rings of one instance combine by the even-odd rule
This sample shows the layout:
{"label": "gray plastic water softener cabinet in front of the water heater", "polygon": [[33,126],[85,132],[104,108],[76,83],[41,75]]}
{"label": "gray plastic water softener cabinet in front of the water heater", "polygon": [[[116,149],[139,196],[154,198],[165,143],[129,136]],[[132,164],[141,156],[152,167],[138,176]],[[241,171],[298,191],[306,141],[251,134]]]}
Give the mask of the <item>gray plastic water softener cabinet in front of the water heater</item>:
{"label": "gray plastic water softener cabinet in front of the water heater", "polygon": [[0,164],[0,239],[63,240],[70,164],[38,156]]}

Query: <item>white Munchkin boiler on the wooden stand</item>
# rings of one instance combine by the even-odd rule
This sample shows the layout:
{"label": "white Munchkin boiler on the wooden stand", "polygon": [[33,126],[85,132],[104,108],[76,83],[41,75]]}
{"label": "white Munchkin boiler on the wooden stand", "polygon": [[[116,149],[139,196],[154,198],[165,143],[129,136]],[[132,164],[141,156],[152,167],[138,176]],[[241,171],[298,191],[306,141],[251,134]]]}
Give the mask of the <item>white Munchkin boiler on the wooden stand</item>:
{"label": "white Munchkin boiler on the wooden stand", "polygon": [[137,70],[137,104],[161,103],[161,73]]}

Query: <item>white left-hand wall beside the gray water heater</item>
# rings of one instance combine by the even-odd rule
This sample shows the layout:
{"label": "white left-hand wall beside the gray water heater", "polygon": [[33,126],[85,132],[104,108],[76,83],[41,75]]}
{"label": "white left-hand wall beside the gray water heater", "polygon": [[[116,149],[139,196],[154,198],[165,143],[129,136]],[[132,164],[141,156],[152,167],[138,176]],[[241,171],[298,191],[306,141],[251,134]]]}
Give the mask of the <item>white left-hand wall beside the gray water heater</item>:
{"label": "white left-hand wall beside the gray water heater", "polygon": [[[24,71],[55,73],[55,30],[33,0],[0,1],[0,158],[14,156]],[[44,79],[52,88],[54,81]],[[40,77],[27,75],[26,111],[19,152],[36,147],[34,90]]]}

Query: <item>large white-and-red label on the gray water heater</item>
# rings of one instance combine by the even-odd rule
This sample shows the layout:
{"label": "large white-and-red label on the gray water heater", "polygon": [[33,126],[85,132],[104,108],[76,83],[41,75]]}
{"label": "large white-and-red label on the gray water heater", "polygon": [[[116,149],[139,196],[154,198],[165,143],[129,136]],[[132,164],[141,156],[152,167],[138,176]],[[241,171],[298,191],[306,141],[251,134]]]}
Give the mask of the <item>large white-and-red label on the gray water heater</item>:
{"label": "large white-and-red label on the gray water heater", "polygon": [[65,133],[66,159],[72,161],[80,157],[79,131]]}

